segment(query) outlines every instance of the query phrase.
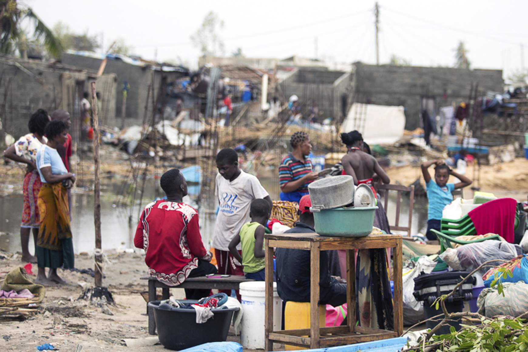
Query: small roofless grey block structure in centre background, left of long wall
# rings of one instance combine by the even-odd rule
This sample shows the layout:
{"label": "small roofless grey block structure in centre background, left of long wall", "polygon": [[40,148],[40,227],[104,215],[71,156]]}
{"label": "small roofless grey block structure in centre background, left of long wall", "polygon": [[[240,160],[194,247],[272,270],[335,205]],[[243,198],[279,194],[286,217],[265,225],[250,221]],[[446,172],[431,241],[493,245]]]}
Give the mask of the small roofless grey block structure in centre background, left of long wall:
{"label": "small roofless grey block structure in centre background, left of long wall", "polygon": [[342,115],[343,94],[348,94],[351,84],[349,73],[317,69],[299,69],[281,82],[286,99],[295,94],[301,106],[310,107],[312,99],[318,104],[324,117]]}

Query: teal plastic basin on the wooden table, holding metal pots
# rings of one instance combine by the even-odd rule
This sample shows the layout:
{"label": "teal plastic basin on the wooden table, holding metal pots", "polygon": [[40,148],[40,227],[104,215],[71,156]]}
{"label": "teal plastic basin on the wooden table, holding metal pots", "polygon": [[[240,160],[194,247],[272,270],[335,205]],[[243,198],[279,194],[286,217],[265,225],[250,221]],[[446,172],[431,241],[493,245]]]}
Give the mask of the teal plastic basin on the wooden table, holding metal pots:
{"label": "teal plastic basin on the wooden table, holding metal pots", "polygon": [[313,211],[315,232],[322,236],[359,237],[372,232],[377,206]]}

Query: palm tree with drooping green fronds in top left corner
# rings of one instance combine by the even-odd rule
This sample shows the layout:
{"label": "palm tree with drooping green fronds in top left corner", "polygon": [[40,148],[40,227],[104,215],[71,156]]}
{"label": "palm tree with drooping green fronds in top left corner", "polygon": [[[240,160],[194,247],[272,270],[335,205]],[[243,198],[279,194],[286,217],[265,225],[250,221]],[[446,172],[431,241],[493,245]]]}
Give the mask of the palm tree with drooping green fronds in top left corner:
{"label": "palm tree with drooping green fronds in top left corner", "polygon": [[34,25],[34,40],[42,41],[48,52],[58,58],[62,54],[60,40],[30,7],[17,3],[17,0],[0,0],[0,52],[10,54],[16,42],[24,40],[21,24],[25,20],[31,21]]}

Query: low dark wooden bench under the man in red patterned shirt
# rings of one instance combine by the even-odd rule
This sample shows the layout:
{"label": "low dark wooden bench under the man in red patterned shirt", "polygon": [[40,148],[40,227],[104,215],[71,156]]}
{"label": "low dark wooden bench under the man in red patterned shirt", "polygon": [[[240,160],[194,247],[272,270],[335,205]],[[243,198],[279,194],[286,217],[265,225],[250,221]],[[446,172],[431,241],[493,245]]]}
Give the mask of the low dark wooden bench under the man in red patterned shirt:
{"label": "low dark wooden bench under the man in red patterned shirt", "polygon": [[[216,289],[216,290],[238,290],[240,283],[254,281],[253,279],[246,279],[244,275],[231,275],[227,278],[208,278],[205,276],[197,278],[187,278],[178,286],[167,286],[156,278],[144,276],[141,280],[148,280],[148,301],[156,300],[156,288],[162,289],[162,299],[168,299],[171,296],[170,289]],[[154,311],[148,309],[148,333],[155,335],[156,321],[154,320]]]}

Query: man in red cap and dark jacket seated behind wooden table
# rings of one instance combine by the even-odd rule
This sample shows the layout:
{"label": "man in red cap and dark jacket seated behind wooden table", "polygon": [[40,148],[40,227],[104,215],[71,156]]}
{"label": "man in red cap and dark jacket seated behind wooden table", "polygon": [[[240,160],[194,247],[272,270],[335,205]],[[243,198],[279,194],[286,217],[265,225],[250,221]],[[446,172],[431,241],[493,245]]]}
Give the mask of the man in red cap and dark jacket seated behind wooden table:
{"label": "man in red cap and dark jacket seated behind wooden table", "polygon": [[[314,214],[310,212],[310,196],[299,201],[299,222],[285,233],[315,232]],[[329,251],[320,251],[319,258],[319,304],[334,307],[346,303],[346,283],[332,277],[329,270]],[[310,301],[310,251],[277,248],[277,292],[283,301]]]}

